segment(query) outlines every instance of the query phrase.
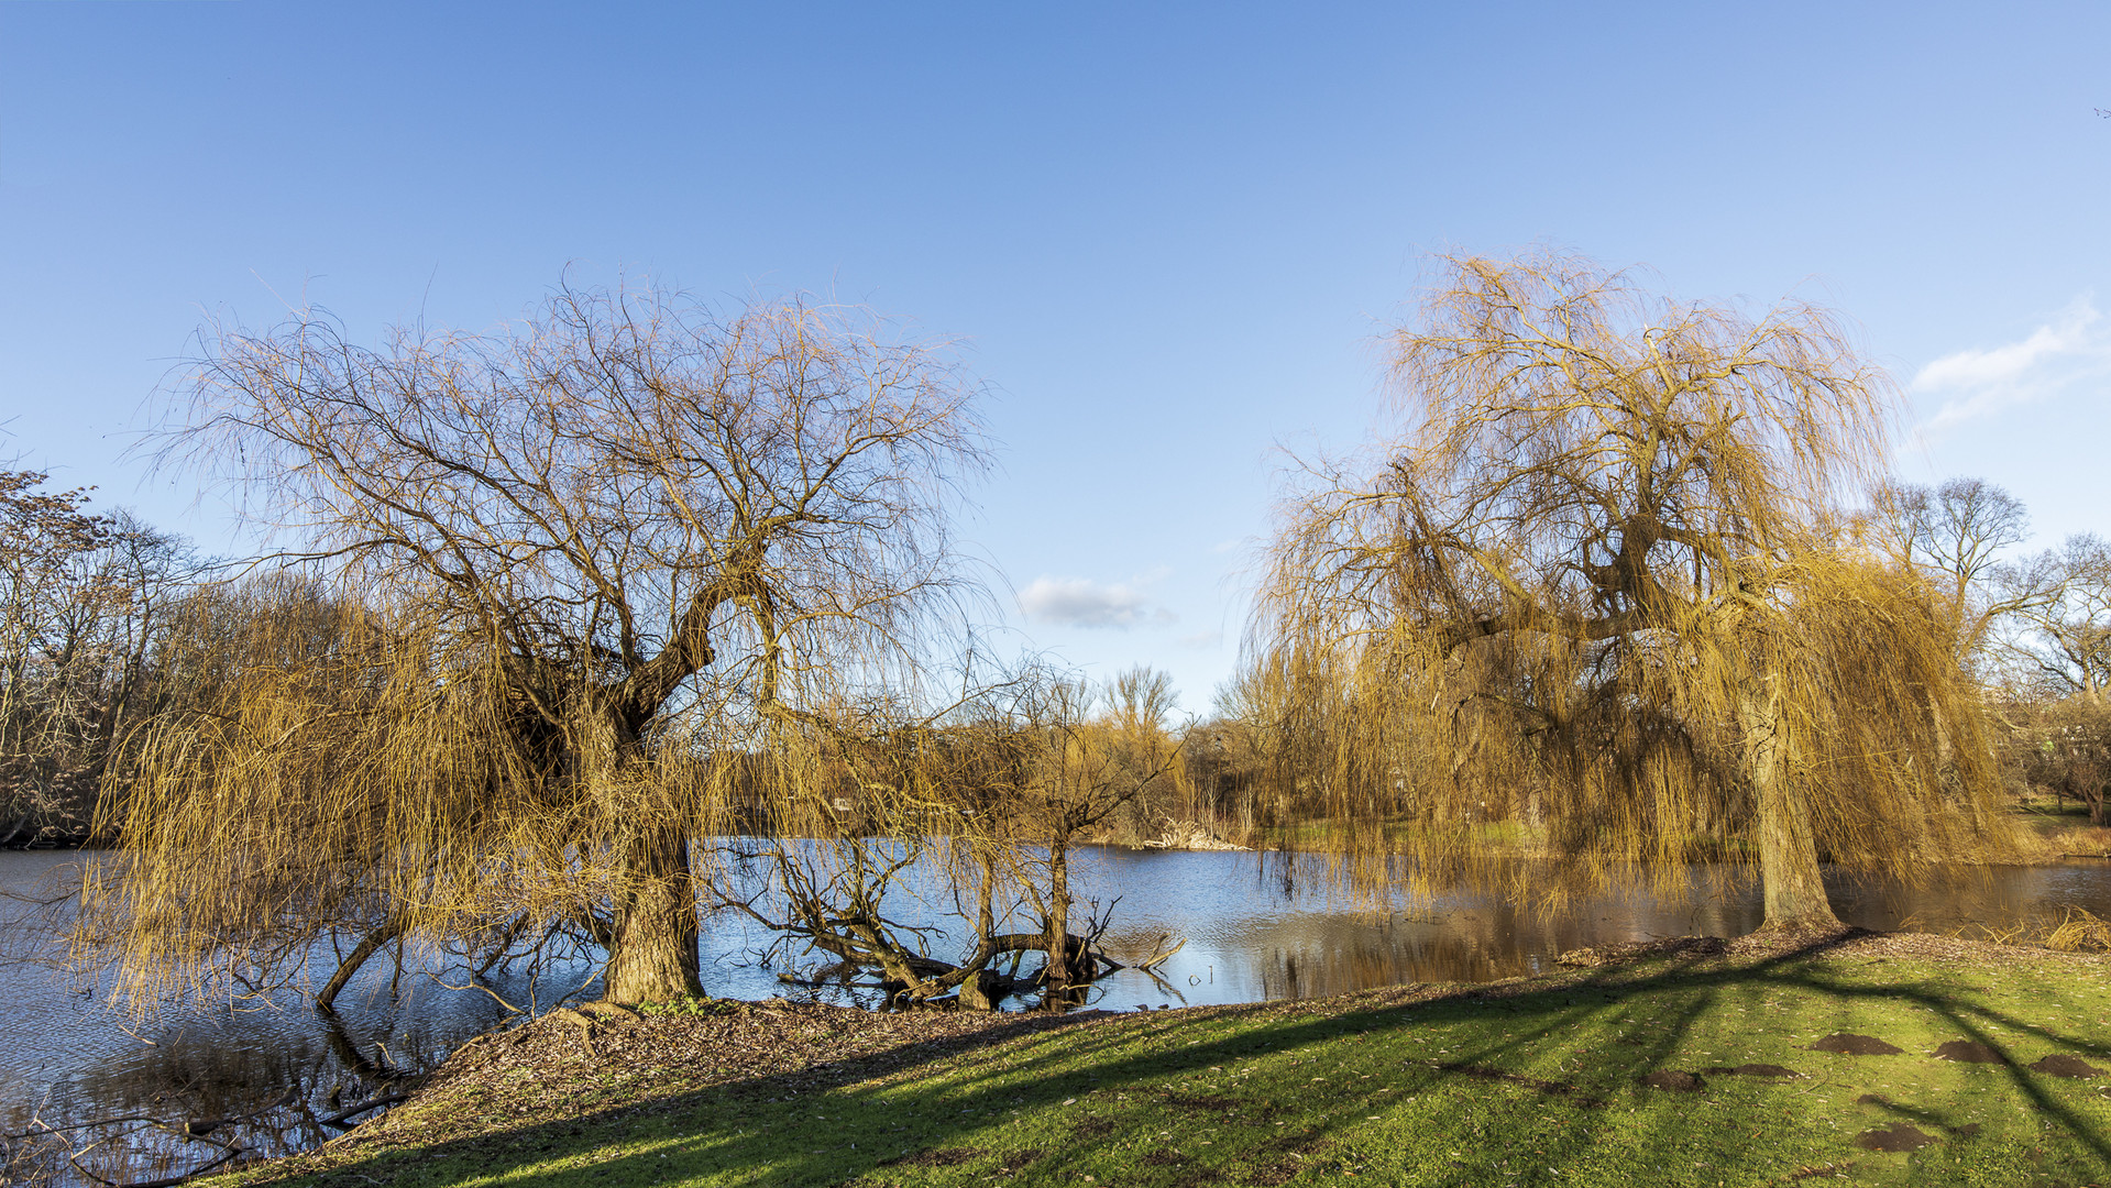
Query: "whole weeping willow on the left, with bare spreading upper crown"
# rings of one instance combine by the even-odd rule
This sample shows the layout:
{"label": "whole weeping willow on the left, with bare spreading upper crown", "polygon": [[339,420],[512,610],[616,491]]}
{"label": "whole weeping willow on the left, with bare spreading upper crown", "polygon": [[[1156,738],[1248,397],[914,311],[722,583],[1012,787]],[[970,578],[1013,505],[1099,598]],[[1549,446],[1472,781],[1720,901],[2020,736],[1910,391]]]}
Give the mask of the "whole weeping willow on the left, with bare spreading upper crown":
{"label": "whole weeping willow on the left, with bare spreading upper crown", "polygon": [[800,793],[790,726],[910,688],[967,589],[975,386],[857,312],[663,291],[205,346],[171,449],[355,610],[329,641],[258,629],[141,743],[87,928],[148,988],[570,922],[606,998],[701,992],[690,840]]}

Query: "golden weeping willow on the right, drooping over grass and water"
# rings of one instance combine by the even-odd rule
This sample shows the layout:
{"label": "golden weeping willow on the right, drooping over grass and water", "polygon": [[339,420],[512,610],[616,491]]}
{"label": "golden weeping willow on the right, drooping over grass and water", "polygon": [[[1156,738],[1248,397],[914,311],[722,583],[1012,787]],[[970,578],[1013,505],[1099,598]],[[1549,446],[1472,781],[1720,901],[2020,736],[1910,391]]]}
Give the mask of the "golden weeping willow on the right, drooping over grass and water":
{"label": "golden weeping willow on the right, drooping over grass and water", "polygon": [[1822,855],[2005,852],[1940,599],[1841,513],[1894,388],[1832,314],[1533,251],[1444,260],[1391,348],[1395,435],[1286,500],[1250,639],[1286,808],[1349,871],[1495,878],[1503,823],[1587,882],[1714,848],[1801,928],[1837,924]]}

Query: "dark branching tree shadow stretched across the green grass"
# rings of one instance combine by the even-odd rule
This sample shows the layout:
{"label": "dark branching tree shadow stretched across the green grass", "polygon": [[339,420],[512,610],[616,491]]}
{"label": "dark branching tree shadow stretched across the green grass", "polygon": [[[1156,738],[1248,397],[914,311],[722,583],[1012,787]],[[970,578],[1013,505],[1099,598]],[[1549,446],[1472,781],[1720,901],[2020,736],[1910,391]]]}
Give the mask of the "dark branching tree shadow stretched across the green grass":
{"label": "dark branching tree shadow stretched across the green grass", "polygon": [[[1520,1023],[1516,1032],[1501,1042],[1484,1042],[1467,1051],[1446,1053],[1448,1059],[1444,1061],[1431,1059],[1408,1066],[1416,1076],[1416,1085],[1438,1085],[1446,1078],[1459,1076],[1488,1080],[1492,1074],[1495,1080],[1507,1080],[1514,1089],[1564,1093],[1571,1095],[1571,1101],[1587,1106],[1590,1097],[1628,1091],[1640,1072],[1659,1068],[1672,1057],[1672,1053],[1680,1051],[1695,1026],[1710,1013],[1710,1009],[1723,1002],[1727,990],[1737,988],[1748,992],[1754,985],[1820,990],[1847,1000],[1881,998],[1891,1004],[1902,1000],[1923,1004],[1938,1011],[1940,1017],[1953,1021],[1965,1030],[1970,1038],[1980,1042],[1989,1042],[1989,1028],[2001,1023],[2012,1026],[2016,1032],[2039,1036],[2052,1045],[2103,1051],[2100,1042],[2081,1040],[2079,1036],[2062,1036],[2054,1028],[2020,1023],[1989,1007],[1953,1002],[1925,985],[1856,985],[1826,977],[1824,969],[1811,966],[1809,960],[1822,956],[1837,943],[1839,941],[1818,941],[1758,960],[1739,958],[1735,962],[1710,964],[1710,956],[1691,956],[1674,958],[1670,962],[1651,962],[1640,969],[1609,966],[1573,977],[1571,981],[1562,981],[1558,985],[1522,983],[1469,988],[1419,1000],[1402,1000],[1402,996],[1410,994],[1408,990],[1393,996],[1387,992],[1366,992],[1359,998],[1374,998],[1370,1009],[1317,1015],[1309,1021],[1290,1026],[1275,1023],[1260,1032],[1216,1036],[1176,1051],[1136,1049],[1142,1047],[1138,1045],[1140,1038],[1148,1038],[1155,1032],[1193,1038],[1193,1023],[1197,1021],[1220,1019],[1229,1023],[1254,1023],[1260,1019],[1281,1017],[1283,1013],[1294,1013],[1296,1007],[1281,1002],[1214,1007],[1182,1011],[1178,1015],[1125,1015],[1089,1026],[1053,1028],[1047,1021],[1026,1019],[1013,1026],[996,1026],[965,1038],[939,1040],[935,1045],[929,1040],[920,1045],[904,1045],[904,1049],[889,1049],[885,1053],[809,1068],[796,1074],[756,1076],[654,1099],[650,1101],[650,1114],[654,1118],[707,1120],[697,1123],[692,1131],[688,1131],[688,1123],[684,1123],[684,1129],[680,1133],[665,1135],[667,1142],[659,1148],[619,1156],[591,1169],[547,1169],[543,1173],[526,1175],[530,1167],[545,1163],[549,1152],[557,1148],[576,1148],[578,1144],[574,1139],[578,1139],[587,1129],[604,1129],[610,1139],[621,1137],[623,1133],[631,1133],[635,1137],[635,1127],[640,1123],[640,1110],[635,1104],[568,1118],[549,1118],[473,1139],[437,1144],[426,1148],[422,1158],[416,1163],[407,1163],[403,1156],[376,1152],[359,1161],[342,1163],[321,1175],[296,1173],[293,1169],[287,1169],[287,1173],[298,1175],[317,1188],[340,1184],[344,1188],[353,1188],[361,1184],[386,1184],[407,1173],[431,1180],[433,1171],[437,1171],[435,1163],[473,1156],[477,1161],[477,1175],[492,1182],[538,1186],[597,1182],[648,1184],[661,1177],[661,1169],[688,1169],[692,1173],[697,1161],[707,1161],[709,1171],[728,1182],[838,1184],[853,1182],[857,1175],[904,1161],[904,1156],[908,1156],[908,1163],[912,1165],[918,1156],[923,1156],[927,1165],[935,1167],[956,1158],[946,1152],[969,1150],[973,1144],[1003,1146],[1005,1135],[1001,1125],[1013,1108],[1034,1110],[1066,1104],[1066,1099],[1087,1101],[1091,1116],[1083,1118],[1083,1129],[1072,1137],[1072,1144],[1051,1156],[1028,1161],[1022,1167],[1005,1165],[1001,1169],[1026,1184],[1058,1175],[1066,1163],[1081,1154],[1089,1154],[1093,1137],[1112,1135],[1117,1131],[1136,1133],[1144,1129],[1159,1133],[1161,1125],[1167,1129],[1178,1125],[1174,1114],[1165,1112],[1188,1108],[1178,1101],[1178,1093],[1174,1091],[1174,1080],[1178,1078],[1207,1072],[1214,1066],[1231,1066],[1237,1059],[1296,1053],[1307,1045],[1336,1040],[1349,1034],[1387,1034],[1427,1023],[1484,1017],[1490,1009],[1514,1011]],[[1602,1009],[1617,1007],[1632,996],[1672,988],[1680,990],[1680,994],[1659,996],[1653,1000],[1659,1007],[1659,1017],[1653,1019],[1655,1026],[1647,1030],[1647,1038],[1632,1045],[1636,1051],[1625,1055],[1625,1059],[1604,1059],[1604,1066],[1596,1070],[1594,1076],[1579,1072],[1575,1080],[1537,1078],[1518,1072],[1520,1057],[1528,1059],[1539,1051],[1547,1051],[1547,1042],[1556,1038],[1558,1030],[1581,1026],[1594,1019]],[[1317,1009],[1330,1011],[1328,1007]],[[1060,1061],[1070,1068],[1051,1070],[1047,1076],[1030,1082],[1022,1082],[1022,1061],[1018,1059],[1005,1059],[1001,1066],[986,1064],[980,1070],[973,1068],[971,1057],[996,1045],[1015,1045],[1015,1055],[1022,1055],[1028,1066],[1034,1061]],[[796,1139],[796,1150],[785,1150],[785,1135],[781,1131],[783,1123],[792,1120],[787,1108],[792,1101],[806,1097],[811,1101],[832,1101],[842,1114],[872,1114],[870,1106],[876,1095],[897,1091],[897,1085],[874,1080],[904,1072],[908,1066],[904,1059],[908,1047],[916,1047],[918,1055],[950,1057],[952,1068],[942,1082],[935,1082],[927,1093],[914,1099],[889,1099],[891,1114],[882,1114],[878,1120],[840,1116],[813,1118],[809,1120],[809,1129],[800,1129],[792,1135]],[[1127,1051],[1123,1055],[1112,1055],[1115,1049]],[[1615,1053],[1604,1055],[1611,1057]],[[1533,1066],[1522,1068],[1530,1070]],[[2046,1116],[2058,1118],[2077,1142],[2105,1163],[2111,1163],[2111,1144],[2105,1142],[2105,1135],[2096,1133],[2073,1110],[2046,1095],[2043,1087],[2016,1068],[2014,1061],[2005,1068],[2014,1085],[2033,1106],[2037,1106]],[[1556,1072],[1560,1074],[1560,1066]],[[851,1087],[857,1089],[849,1095],[830,1095],[832,1091]],[[1364,1097],[1340,1097],[1345,1104],[1366,1099],[1370,1099],[1368,1093]],[[1199,1101],[1205,1110],[1250,1106],[1254,1120],[1237,1125],[1269,1123],[1269,1101],[1235,1097],[1233,1089],[1207,1099],[1191,1097],[1191,1106],[1193,1101]],[[1376,1099],[1370,1101],[1376,1104]],[[1165,1110],[1153,1112],[1155,1104],[1165,1106]],[[1112,1108],[1115,1114],[1102,1112],[1106,1108]],[[1357,1112],[1362,1112],[1362,1108],[1357,1108]],[[1262,1144],[1262,1150],[1317,1150],[1324,1142],[1328,1142],[1328,1137],[1336,1135],[1340,1127],[1347,1125],[1347,1118],[1332,1118],[1332,1114],[1338,1112],[1340,1110],[1332,1110],[1328,1114],[1307,1114],[1317,1120],[1313,1125],[1298,1127],[1296,1131],[1283,1135],[1283,1139],[1275,1139],[1273,1146]],[[747,1133],[752,1114],[762,1114],[766,1120],[777,1125],[779,1133],[775,1135],[775,1142],[764,1142],[760,1133]],[[1955,1129],[1940,1120],[1936,1112],[1923,1110],[1915,1116]],[[1098,1135],[1087,1133],[1093,1125],[1098,1125],[1093,1118],[1108,1118],[1112,1125],[1098,1131]],[[1674,1127],[1676,1118],[1666,1118],[1663,1125]],[[1283,1131],[1290,1131],[1290,1127],[1283,1127]],[[1592,1142],[1594,1139],[1585,1135],[1560,1135],[1549,1139],[1554,1150],[1549,1150],[1547,1156],[1575,1158],[1587,1152]],[[682,1158],[659,1163],[665,1154],[680,1154]],[[1013,1152],[1011,1156],[1005,1152],[975,1152],[975,1156],[996,1156],[1003,1163],[1005,1158],[1020,1158],[1022,1152]],[[1167,1177],[1178,1180],[1178,1167],[1165,1167]],[[1461,1165],[1461,1169],[1465,1169],[1465,1165]],[[616,1180],[610,1180],[610,1175]]]}

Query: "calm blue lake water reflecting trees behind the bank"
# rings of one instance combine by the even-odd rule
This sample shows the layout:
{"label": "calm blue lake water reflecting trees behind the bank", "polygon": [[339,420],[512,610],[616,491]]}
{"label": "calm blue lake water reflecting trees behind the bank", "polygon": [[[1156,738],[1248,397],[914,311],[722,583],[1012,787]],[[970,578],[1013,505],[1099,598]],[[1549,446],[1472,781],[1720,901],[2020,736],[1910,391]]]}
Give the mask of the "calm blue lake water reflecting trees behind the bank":
{"label": "calm blue lake water reflecting trees behind the bank", "polygon": [[[0,852],[0,893],[34,895],[93,855]],[[1640,890],[1579,899],[1547,920],[1486,895],[1359,909],[1324,890],[1286,895],[1256,855],[1089,848],[1077,861],[1081,903],[1115,901],[1108,952],[1144,954],[1161,935],[1186,945],[1157,977],[1121,971],[1098,983],[1093,1007],[1131,1011],[1309,998],[1404,981],[1490,981],[1552,969],[1556,954],[1611,941],[1674,935],[1735,937],[1758,926],[1750,880],[1695,869],[1689,895]],[[2111,918],[2111,863],[1999,867],[1955,874],[1923,888],[1828,878],[1849,924],[1929,931],[1997,928],[2086,907]],[[63,975],[46,960],[17,901],[0,899],[0,1131],[152,1114],[184,1123],[264,1110],[253,1123],[215,1131],[245,1150],[277,1154],[321,1142],[344,1106],[391,1091],[386,1072],[424,1070],[467,1038],[505,1023],[507,1011],[460,971],[412,954],[405,973],[376,960],[340,996],[334,1032],[300,996],[281,994],[211,1009],[167,1009],[133,1019],[108,1002],[108,977]],[[733,998],[813,998],[779,981],[764,952],[773,937],[735,920],[705,931],[703,981]],[[946,954],[944,943],[933,952]],[[562,975],[564,971],[559,971]],[[327,966],[325,966],[327,975]],[[492,981],[513,1002],[549,1002],[576,977],[536,985]],[[842,992],[834,1000],[842,1000]],[[131,1127],[131,1125],[127,1125]],[[122,1131],[80,1131],[91,1135]],[[179,1127],[177,1127],[179,1129]],[[220,1154],[196,1139],[131,1129],[84,1161],[118,1180],[186,1171]],[[0,1180],[6,1175],[0,1173]],[[80,1182],[80,1180],[74,1180]]]}

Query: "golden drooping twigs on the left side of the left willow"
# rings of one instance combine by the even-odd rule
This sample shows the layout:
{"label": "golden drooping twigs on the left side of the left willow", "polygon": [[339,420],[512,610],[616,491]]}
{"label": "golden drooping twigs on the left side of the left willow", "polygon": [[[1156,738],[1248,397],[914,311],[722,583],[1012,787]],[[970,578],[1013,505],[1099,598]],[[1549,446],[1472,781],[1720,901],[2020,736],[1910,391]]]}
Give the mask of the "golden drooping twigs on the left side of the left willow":
{"label": "golden drooping twigs on the left side of the left willow", "polygon": [[190,599],[165,650],[182,705],[106,796],[118,852],[82,888],[80,939],[122,945],[129,992],[291,981],[319,935],[460,941],[585,909],[551,880],[585,829],[521,810],[536,777],[483,745],[490,705],[431,644],[289,576]]}

